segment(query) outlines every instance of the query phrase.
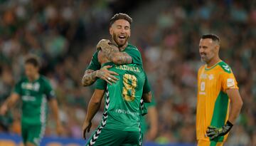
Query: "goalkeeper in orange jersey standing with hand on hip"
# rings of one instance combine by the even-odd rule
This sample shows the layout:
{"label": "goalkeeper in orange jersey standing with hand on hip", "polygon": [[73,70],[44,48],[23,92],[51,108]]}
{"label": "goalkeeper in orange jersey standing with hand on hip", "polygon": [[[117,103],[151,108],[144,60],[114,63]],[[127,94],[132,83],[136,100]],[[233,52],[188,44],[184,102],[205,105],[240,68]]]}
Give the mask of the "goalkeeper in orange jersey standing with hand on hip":
{"label": "goalkeeper in orange jersey standing with hand on hip", "polygon": [[242,108],[238,83],[230,66],[220,60],[219,50],[218,36],[207,34],[201,37],[199,53],[206,65],[198,71],[198,146],[223,145]]}

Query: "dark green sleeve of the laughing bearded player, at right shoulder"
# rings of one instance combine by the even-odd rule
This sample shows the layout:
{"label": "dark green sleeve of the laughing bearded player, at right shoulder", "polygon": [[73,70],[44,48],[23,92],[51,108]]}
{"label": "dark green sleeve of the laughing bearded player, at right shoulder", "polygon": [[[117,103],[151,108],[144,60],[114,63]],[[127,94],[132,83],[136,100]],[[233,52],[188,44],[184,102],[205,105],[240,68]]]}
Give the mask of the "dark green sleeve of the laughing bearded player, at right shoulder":
{"label": "dark green sleeve of the laughing bearded player, at right shoulder", "polygon": [[132,63],[142,67],[142,55],[137,48],[127,48],[125,49],[125,52],[132,57]]}

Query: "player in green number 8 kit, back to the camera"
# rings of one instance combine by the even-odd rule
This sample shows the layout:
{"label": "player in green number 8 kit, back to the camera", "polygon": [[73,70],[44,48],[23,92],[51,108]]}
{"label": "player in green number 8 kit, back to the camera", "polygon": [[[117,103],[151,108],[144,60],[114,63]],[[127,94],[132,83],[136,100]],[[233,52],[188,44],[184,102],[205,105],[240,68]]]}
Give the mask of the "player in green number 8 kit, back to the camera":
{"label": "player in green number 8 kit, back to the camera", "polygon": [[[113,48],[118,51],[117,47]],[[100,108],[101,100],[106,93],[105,111],[102,123],[87,141],[87,145],[142,145],[140,100],[143,98],[145,102],[151,102],[151,92],[144,88],[146,74],[143,68],[134,63],[114,65],[103,51],[98,52],[98,59],[102,68],[113,66],[110,71],[118,73],[116,78],[119,80],[113,84],[102,79],[96,82],[95,92],[82,126],[84,138],[85,132],[90,131],[92,118]],[[142,97],[142,93],[147,94]]]}

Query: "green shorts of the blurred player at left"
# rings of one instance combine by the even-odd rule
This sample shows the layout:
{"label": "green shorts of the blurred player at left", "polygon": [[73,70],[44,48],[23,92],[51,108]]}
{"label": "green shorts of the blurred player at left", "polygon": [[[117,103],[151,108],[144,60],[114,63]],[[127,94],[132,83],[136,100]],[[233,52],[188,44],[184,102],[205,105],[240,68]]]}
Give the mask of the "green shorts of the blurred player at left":
{"label": "green shorts of the blurred player at left", "polygon": [[34,145],[39,145],[44,132],[46,130],[46,125],[28,125],[21,124],[21,137],[23,139],[23,143],[31,142]]}

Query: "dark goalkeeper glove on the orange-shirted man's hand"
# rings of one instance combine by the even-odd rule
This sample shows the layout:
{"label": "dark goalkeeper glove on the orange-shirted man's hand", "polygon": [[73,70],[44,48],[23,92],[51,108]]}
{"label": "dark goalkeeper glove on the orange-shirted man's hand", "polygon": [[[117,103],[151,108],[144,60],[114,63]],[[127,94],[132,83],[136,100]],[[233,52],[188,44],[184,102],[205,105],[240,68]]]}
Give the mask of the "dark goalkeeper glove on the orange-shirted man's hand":
{"label": "dark goalkeeper glove on the orange-shirted man's hand", "polygon": [[210,137],[210,140],[213,140],[215,137],[220,137],[223,135],[226,135],[230,129],[233,127],[233,124],[231,122],[226,122],[223,127],[213,127],[209,126],[206,130],[206,135]]}

